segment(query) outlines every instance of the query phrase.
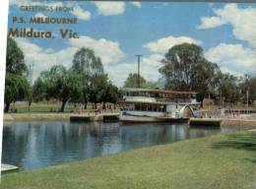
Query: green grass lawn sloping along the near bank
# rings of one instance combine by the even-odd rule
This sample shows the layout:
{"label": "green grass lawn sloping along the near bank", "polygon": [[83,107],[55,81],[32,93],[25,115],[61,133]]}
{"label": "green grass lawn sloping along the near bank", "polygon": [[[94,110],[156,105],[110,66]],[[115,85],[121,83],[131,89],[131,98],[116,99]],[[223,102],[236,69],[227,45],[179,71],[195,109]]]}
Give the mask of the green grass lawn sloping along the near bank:
{"label": "green grass lawn sloping along the near bank", "polygon": [[256,185],[256,133],[216,135],[5,174],[15,189],[244,189]]}

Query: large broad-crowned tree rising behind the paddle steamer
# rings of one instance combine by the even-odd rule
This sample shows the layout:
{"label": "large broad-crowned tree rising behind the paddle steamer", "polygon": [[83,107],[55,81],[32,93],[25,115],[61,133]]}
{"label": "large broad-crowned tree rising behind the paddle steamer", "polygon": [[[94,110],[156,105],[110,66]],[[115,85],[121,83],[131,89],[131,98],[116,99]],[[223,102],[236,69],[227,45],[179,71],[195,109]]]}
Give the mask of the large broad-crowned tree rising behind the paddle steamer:
{"label": "large broad-crowned tree rising behind the paddle steamer", "polygon": [[202,100],[216,88],[217,79],[214,76],[220,69],[204,57],[203,48],[199,45],[175,45],[165,54],[161,64],[160,74],[168,90],[195,91]]}

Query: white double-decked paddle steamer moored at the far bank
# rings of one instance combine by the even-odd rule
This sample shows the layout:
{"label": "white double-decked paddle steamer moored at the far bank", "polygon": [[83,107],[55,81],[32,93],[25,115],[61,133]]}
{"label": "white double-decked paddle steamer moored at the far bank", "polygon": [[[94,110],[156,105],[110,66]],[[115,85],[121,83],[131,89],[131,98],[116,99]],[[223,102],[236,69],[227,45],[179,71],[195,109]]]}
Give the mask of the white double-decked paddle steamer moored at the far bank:
{"label": "white double-decked paddle steamer moored at the far bank", "polygon": [[163,122],[196,117],[199,113],[195,92],[126,88],[123,93],[121,122]]}

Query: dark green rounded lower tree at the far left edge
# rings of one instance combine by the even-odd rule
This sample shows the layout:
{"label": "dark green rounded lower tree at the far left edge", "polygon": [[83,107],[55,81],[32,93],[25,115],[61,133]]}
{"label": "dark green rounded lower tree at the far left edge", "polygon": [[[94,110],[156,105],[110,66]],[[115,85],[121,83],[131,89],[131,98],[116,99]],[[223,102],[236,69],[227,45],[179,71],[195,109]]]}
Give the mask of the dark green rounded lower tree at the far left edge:
{"label": "dark green rounded lower tree at the far left edge", "polygon": [[6,73],[5,78],[5,108],[4,111],[8,112],[10,104],[17,100],[23,99],[29,93],[29,83],[23,76]]}

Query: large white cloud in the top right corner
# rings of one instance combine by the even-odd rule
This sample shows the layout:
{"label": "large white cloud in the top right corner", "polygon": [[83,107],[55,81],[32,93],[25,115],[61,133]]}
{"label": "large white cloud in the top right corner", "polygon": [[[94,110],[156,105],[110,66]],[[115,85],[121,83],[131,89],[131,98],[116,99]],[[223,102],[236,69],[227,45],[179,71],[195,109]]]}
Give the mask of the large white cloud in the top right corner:
{"label": "large white cloud in the top right corner", "polygon": [[226,24],[232,26],[233,35],[256,47],[256,8],[240,9],[236,4],[227,4],[214,10],[215,17],[204,17],[197,27],[200,30],[213,29]]}

